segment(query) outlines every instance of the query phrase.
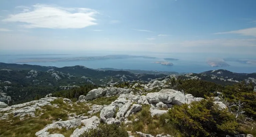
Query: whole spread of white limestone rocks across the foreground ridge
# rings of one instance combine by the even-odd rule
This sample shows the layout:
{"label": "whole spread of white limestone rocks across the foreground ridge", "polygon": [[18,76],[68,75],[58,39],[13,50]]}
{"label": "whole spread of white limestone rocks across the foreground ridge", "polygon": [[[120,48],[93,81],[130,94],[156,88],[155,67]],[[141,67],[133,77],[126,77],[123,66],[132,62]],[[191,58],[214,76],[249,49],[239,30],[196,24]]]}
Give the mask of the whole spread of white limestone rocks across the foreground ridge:
{"label": "whole spread of white limestone rocks across the foreground ridge", "polygon": [[[106,87],[97,88],[89,91],[87,95],[79,96],[77,102],[72,102],[68,98],[57,98],[51,97],[48,94],[45,98],[39,100],[34,100],[26,102],[23,104],[7,106],[0,102],[0,119],[7,119],[10,116],[19,117],[21,120],[29,117],[39,117],[43,113],[37,114],[38,110],[44,109],[44,106],[52,106],[54,108],[59,108],[59,104],[52,103],[56,99],[63,100],[63,103],[69,106],[77,105],[82,103],[89,107],[89,111],[84,114],[76,114],[68,112],[68,119],[62,121],[52,121],[51,124],[46,125],[43,129],[36,132],[38,137],[54,137],[60,136],[62,134],[51,134],[49,130],[51,129],[62,129],[70,130],[75,128],[70,137],[78,137],[83,132],[88,131],[91,128],[97,128],[100,122],[106,124],[121,124],[125,125],[132,124],[133,121],[129,121],[127,118],[142,110],[143,105],[150,106],[151,116],[160,116],[168,112],[168,109],[172,109],[173,105],[182,105],[184,103],[190,104],[193,101],[200,101],[204,98],[194,97],[192,94],[184,94],[181,91],[173,89],[161,89],[157,92],[149,92],[158,87],[168,88],[169,79],[165,78],[162,81],[151,80],[148,84],[135,83],[131,88],[124,87]],[[138,89],[142,88],[142,89]],[[101,97],[111,97],[118,96],[116,100],[111,102],[109,105],[97,105],[87,103],[89,100],[95,100]],[[215,103],[219,105],[219,108],[226,108],[225,104],[221,102],[217,97]],[[95,114],[99,113],[99,116]],[[134,120],[136,122],[137,120]],[[150,136],[149,134],[144,134],[141,132],[136,132],[140,136]],[[170,135],[157,135],[160,136],[170,136]]]}

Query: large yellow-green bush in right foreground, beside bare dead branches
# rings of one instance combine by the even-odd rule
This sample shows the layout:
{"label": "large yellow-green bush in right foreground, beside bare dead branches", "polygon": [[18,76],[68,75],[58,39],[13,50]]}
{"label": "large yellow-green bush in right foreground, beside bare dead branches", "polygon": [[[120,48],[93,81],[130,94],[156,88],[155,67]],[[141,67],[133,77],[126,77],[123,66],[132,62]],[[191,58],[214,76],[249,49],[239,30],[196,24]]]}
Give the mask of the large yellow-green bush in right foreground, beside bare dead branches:
{"label": "large yellow-green bush in right foreground, beside bare dead branches", "polygon": [[226,109],[218,109],[212,98],[181,106],[174,105],[168,112],[169,124],[186,136],[224,136],[236,133],[239,124]]}

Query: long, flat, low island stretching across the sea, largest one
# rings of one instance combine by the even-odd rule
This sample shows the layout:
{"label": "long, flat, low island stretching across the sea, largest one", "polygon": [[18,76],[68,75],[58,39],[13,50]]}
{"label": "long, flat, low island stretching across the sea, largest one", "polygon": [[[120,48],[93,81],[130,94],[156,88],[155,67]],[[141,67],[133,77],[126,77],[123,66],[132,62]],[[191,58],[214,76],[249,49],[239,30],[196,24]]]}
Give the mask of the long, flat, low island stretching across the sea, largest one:
{"label": "long, flat, low island stretching across the sea, largest one", "polygon": [[110,60],[110,59],[128,59],[128,58],[145,58],[155,59],[149,56],[131,56],[131,55],[107,55],[93,57],[70,57],[70,58],[22,58],[12,61],[13,63],[30,63],[30,62],[72,62],[72,61],[91,61],[91,60]]}

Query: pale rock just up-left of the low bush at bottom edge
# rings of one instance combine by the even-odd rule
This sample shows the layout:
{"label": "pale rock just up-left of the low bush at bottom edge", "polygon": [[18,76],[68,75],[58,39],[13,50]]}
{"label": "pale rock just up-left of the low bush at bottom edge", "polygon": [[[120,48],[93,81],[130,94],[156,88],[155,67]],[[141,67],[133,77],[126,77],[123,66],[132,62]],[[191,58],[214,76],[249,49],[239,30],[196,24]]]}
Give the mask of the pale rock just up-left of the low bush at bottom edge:
{"label": "pale rock just up-left of the low bush at bottom edge", "polygon": [[97,126],[100,124],[99,118],[96,116],[93,116],[89,119],[84,119],[81,121],[84,126],[82,128],[76,128],[70,137],[79,137],[81,134],[83,134],[85,131],[88,131],[92,128],[97,128]]}

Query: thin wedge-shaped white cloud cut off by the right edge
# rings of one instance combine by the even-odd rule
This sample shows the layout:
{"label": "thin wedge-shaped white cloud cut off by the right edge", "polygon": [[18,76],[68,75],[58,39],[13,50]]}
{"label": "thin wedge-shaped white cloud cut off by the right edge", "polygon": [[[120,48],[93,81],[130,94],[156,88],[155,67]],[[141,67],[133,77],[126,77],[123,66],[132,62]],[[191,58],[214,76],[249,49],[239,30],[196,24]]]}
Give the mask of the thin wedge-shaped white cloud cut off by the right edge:
{"label": "thin wedge-shaped white cloud cut off by the right edge", "polygon": [[248,28],[248,29],[241,29],[236,31],[229,31],[229,32],[219,32],[214,34],[240,34],[244,36],[254,36],[256,37],[256,27],[255,28]]}

